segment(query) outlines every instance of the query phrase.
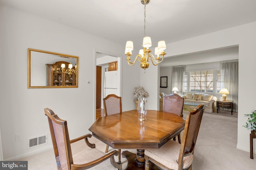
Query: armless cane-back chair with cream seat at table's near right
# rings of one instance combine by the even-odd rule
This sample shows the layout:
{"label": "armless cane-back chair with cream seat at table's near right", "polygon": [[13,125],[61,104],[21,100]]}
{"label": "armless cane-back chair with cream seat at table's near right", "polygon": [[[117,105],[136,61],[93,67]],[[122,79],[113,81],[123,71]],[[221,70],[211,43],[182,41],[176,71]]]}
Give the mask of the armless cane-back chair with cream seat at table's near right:
{"label": "armless cane-back chair with cream seat at table's near right", "polygon": [[170,140],[160,149],[146,149],[145,170],[149,170],[149,162],[164,170],[192,170],[193,154],[203,112],[204,104],[188,112],[181,144]]}

